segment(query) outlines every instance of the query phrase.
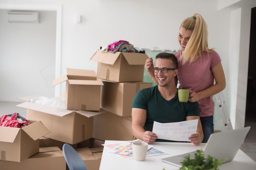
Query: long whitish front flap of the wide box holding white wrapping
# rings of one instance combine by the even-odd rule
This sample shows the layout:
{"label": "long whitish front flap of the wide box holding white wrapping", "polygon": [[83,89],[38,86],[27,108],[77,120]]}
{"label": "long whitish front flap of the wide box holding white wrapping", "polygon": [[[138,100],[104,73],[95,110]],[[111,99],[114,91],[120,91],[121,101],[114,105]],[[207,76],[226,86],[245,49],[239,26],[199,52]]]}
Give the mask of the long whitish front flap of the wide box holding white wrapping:
{"label": "long whitish front flap of the wide box holding white wrapping", "polygon": [[51,115],[56,115],[63,117],[65,115],[68,115],[74,111],[72,110],[65,110],[65,109],[59,109],[55,107],[50,107],[38,103],[32,103],[32,102],[23,102],[21,104],[16,105],[17,107],[25,108],[25,109],[30,109],[30,110],[35,110],[43,113],[48,113]]}

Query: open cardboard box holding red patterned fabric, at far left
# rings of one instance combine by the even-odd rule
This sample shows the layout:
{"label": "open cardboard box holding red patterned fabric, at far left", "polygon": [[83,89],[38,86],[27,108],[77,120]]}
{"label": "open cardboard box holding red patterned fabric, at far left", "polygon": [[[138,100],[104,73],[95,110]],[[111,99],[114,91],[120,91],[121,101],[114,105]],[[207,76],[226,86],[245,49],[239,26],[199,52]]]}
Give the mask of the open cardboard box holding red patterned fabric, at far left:
{"label": "open cardboard box holding red patterned fabric, at far left", "polygon": [[50,133],[40,121],[22,128],[0,126],[0,160],[21,162],[39,152],[39,138]]}

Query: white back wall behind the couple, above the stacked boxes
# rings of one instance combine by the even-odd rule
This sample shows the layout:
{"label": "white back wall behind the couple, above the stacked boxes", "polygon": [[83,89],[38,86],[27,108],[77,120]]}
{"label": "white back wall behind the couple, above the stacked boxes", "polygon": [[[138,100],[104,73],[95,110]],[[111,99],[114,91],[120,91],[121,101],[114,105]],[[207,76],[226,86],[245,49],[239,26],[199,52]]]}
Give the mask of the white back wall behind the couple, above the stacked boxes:
{"label": "white back wall behind the couple, above the stacked boxes", "polygon": [[[220,51],[222,57],[221,52],[225,54],[224,51],[227,51],[219,42],[228,42],[229,22],[226,20],[229,20],[230,14],[225,10],[218,12],[216,1],[63,0],[62,3],[63,74],[66,67],[96,70],[97,63],[90,61],[90,57],[100,46],[119,39],[128,40],[140,48],[177,50],[180,23],[194,13],[203,15],[208,23],[209,45]],[[78,14],[82,16],[82,23],[79,24],[75,22]]]}

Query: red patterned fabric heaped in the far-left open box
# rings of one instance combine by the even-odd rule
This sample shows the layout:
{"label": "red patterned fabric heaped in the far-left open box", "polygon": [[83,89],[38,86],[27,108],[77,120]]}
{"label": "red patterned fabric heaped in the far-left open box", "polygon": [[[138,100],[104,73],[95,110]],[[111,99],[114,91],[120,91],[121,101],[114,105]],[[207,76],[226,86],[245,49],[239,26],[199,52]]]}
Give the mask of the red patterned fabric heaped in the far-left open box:
{"label": "red patterned fabric heaped in the far-left open box", "polygon": [[17,117],[16,114],[17,113],[14,113],[13,117],[11,117],[9,115],[1,116],[0,117],[0,126],[22,128],[22,127],[24,127],[24,126],[29,124],[26,120],[25,121],[21,121],[21,120],[15,119],[15,117]]}

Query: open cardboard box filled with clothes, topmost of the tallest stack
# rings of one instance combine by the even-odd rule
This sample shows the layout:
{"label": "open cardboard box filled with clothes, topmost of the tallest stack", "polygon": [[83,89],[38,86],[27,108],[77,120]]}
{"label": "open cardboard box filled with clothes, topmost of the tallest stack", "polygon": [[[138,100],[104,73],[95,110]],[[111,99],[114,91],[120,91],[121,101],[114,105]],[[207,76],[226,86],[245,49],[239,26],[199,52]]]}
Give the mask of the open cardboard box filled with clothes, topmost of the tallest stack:
{"label": "open cardboard box filled with clothes, topmost of the tallest stack", "polygon": [[97,78],[114,82],[142,82],[148,58],[144,53],[98,50],[90,60],[98,62]]}

